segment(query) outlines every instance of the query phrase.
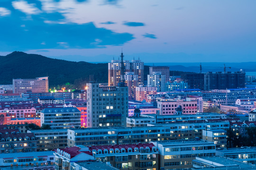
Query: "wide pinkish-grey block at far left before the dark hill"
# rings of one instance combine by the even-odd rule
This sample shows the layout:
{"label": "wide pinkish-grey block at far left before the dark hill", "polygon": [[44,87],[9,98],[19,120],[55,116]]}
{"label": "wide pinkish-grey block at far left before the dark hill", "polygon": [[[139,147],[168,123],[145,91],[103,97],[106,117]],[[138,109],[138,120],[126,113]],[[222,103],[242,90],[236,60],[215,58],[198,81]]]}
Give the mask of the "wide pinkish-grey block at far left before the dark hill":
{"label": "wide pinkish-grey block at far left before the dark hill", "polygon": [[48,92],[48,77],[35,79],[13,79],[13,93],[45,93]]}

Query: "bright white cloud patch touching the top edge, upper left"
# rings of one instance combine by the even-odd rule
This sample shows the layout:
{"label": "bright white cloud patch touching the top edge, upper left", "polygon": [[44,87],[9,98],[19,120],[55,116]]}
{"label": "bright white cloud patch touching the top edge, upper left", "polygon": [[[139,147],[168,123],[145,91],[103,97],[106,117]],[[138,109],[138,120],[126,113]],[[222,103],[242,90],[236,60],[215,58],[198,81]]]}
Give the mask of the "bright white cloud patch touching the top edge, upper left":
{"label": "bright white cloud patch touching the top edge, upper left", "polygon": [[17,0],[12,2],[12,6],[26,14],[39,14],[41,11],[36,7],[35,4],[28,4],[24,0]]}

